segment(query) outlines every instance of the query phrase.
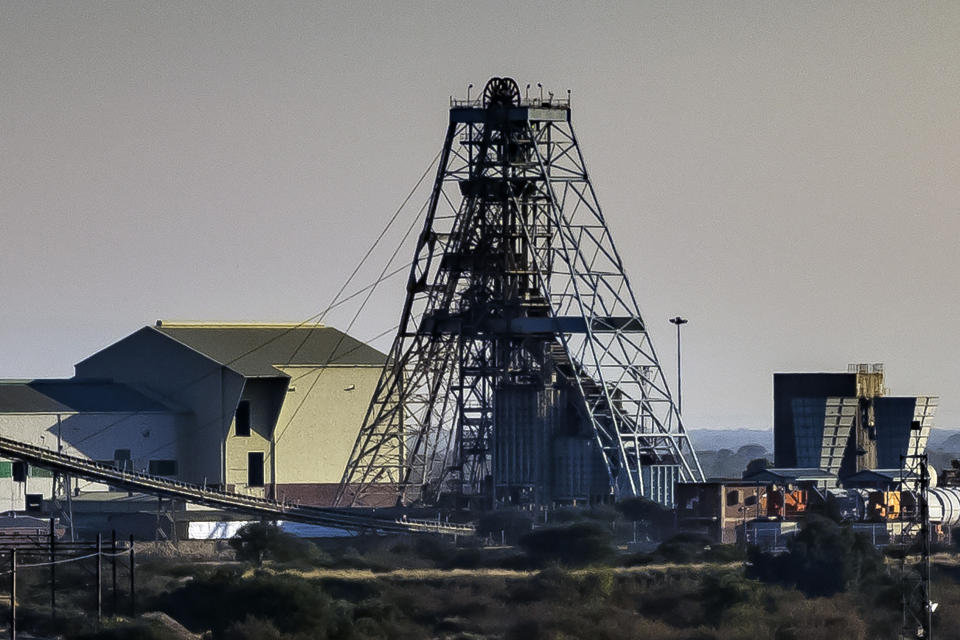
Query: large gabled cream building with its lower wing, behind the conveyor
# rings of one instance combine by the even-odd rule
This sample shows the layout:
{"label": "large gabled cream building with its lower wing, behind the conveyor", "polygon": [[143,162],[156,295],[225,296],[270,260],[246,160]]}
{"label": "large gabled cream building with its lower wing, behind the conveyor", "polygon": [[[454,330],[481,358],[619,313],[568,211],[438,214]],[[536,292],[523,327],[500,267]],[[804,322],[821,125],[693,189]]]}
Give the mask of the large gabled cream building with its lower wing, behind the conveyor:
{"label": "large gabled cream building with its lower wing, behind the conveyor", "polygon": [[[78,363],[74,378],[0,382],[0,432],[120,469],[328,505],[384,360],[331,327],[157,322]],[[52,474],[0,462],[0,510],[52,492]]]}

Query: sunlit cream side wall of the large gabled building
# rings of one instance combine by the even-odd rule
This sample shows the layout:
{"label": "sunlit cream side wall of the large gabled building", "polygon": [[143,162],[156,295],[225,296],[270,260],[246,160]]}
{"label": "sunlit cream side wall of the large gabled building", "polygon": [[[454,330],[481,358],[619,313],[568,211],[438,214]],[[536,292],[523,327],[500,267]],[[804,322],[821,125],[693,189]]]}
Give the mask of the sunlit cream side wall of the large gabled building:
{"label": "sunlit cream side wall of the large gabled building", "polygon": [[337,485],[380,379],[380,366],[283,367],[290,376],[274,436],[278,485]]}

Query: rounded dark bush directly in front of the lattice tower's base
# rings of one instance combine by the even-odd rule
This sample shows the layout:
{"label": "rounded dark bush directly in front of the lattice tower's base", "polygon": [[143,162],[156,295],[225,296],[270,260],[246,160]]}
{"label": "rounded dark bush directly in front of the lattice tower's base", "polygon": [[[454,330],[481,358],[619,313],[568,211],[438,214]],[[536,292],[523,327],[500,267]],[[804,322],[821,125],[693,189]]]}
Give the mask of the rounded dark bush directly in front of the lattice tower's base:
{"label": "rounded dark bush directly in front of the lattice tower's base", "polygon": [[609,529],[592,522],[537,529],[520,538],[520,547],[532,559],[582,566],[613,555]]}

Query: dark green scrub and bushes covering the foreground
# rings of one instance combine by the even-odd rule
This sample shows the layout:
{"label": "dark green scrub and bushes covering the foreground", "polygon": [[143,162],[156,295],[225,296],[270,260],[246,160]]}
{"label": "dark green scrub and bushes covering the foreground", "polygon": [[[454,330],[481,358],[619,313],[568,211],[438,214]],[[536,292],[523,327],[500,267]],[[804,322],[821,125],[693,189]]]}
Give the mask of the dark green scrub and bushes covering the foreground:
{"label": "dark green scrub and bushes covering the foreground", "polygon": [[[90,615],[90,567],[64,565],[61,618],[53,626],[42,604],[45,574],[25,572],[21,628],[71,640],[897,636],[896,563],[885,563],[849,528],[812,517],[788,553],[750,551],[749,561],[746,550],[687,534],[630,555],[613,544],[619,525],[609,511],[571,511],[532,531],[529,520],[502,516],[491,527],[519,523],[518,546],[505,548],[427,536],[314,544],[254,525],[224,545],[236,561],[151,558],[144,549],[138,598],[142,610],[155,613],[132,621],[108,616],[98,627]],[[656,519],[642,503],[613,517],[627,513],[639,522]],[[942,556],[935,578],[936,631],[953,637],[960,633],[960,565]],[[109,593],[105,603],[112,613]]]}

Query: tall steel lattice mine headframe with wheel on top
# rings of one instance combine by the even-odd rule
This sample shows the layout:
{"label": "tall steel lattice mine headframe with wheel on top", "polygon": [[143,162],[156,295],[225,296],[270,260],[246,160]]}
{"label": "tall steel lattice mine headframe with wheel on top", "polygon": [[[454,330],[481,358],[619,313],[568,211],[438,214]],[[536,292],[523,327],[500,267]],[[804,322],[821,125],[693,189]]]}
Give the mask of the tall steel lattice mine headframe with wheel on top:
{"label": "tall steel lattice mine headframe with wheel on top", "polygon": [[[602,490],[576,488],[595,487],[594,460]],[[666,484],[702,479],[569,94],[523,98],[493,78],[481,98],[451,100],[400,328],[338,504],[577,491],[671,503]]]}

